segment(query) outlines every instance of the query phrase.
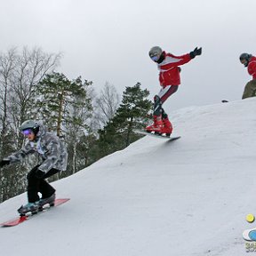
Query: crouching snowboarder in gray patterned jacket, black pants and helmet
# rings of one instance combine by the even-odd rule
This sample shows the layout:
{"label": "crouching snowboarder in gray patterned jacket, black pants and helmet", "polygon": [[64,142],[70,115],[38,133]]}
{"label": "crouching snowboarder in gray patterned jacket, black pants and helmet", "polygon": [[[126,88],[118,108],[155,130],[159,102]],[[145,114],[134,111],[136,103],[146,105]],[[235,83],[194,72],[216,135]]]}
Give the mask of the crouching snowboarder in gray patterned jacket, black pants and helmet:
{"label": "crouching snowboarder in gray patterned jacket, black pants and helmet", "polygon": [[[36,153],[41,156],[41,164],[28,172],[28,204],[22,205],[18,212],[37,212],[44,204],[54,204],[55,189],[45,180],[57,172],[66,171],[68,153],[64,143],[52,132],[47,132],[43,124],[27,120],[20,126],[27,137],[26,145],[11,156],[0,161],[0,167],[20,162],[25,156]],[[42,197],[39,198],[38,192]]]}

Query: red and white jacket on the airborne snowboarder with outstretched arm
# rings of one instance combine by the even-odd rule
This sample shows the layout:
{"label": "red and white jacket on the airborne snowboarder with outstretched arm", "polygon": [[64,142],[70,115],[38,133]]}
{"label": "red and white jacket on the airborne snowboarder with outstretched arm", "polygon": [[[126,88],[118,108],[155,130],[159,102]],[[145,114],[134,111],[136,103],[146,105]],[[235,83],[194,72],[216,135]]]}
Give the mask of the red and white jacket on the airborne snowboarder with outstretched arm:
{"label": "red and white jacket on the airborne snowboarder with outstretched arm", "polygon": [[191,57],[189,53],[181,56],[174,56],[172,55],[172,53],[164,52],[164,60],[157,65],[160,71],[159,82],[161,86],[165,87],[167,85],[179,85],[180,84],[179,66],[188,63],[188,61],[190,60],[191,60]]}

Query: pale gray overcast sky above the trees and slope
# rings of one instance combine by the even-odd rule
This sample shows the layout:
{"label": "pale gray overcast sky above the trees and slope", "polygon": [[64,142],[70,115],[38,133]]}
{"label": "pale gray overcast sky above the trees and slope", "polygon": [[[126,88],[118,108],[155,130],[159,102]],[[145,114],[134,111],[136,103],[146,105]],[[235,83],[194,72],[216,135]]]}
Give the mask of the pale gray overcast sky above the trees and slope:
{"label": "pale gray overcast sky above the trees and slope", "polygon": [[239,63],[256,53],[255,0],[0,0],[0,51],[12,46],[63,52],[57,71],[82,76],[121,94],[141,83],[150,97],[160,90],[155,45],[181,55],[203,54],[182,66],[181,85],[166,101],[172,111],[220,100],[240,100],[251,79]]}

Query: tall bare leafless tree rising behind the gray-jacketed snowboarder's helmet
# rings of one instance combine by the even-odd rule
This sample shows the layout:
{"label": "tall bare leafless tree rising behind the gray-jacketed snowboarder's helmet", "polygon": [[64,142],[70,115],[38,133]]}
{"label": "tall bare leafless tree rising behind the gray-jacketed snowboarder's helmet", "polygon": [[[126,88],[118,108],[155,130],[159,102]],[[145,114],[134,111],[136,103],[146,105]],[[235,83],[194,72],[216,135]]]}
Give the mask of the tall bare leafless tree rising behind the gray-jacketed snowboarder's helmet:
{"label": "tall bare leafless tree rising behind the gray-jacketed snowboarder's helmet", "polygon": [[60,53],[45,53],[40,48],[28,50],[27,47],[16,58],[12,72],[11,101],[12,124],[17,132],[20,147],[20,124],[31,118],[34,94],[40,81],[47,72],[51,72],[60,61]]}

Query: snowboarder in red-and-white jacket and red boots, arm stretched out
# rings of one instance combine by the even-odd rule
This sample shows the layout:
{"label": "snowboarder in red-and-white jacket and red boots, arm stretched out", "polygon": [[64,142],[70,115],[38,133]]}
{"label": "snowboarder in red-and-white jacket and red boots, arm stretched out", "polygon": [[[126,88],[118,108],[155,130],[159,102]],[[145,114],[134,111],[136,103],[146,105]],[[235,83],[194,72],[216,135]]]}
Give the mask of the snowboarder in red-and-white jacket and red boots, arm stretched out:
{"label": "snowboarder in red-and-white jacket and red boots, arm stretched out", "polygon": [[148,52],[151,60],[157,63],[159,69],[159,82],[162,86],[160,92],[154,97],[154,123],[146,127],[147,132],[158,134],[172,133],[172,124],[164,112],[162,105],[174,92],[177,92],[180,84],[180,65],[188,63],[196,56],[201,55],[202,48],[197,48],[187,54],[175,56],[172,53],[164,52],[159,46],[154,46]]}

